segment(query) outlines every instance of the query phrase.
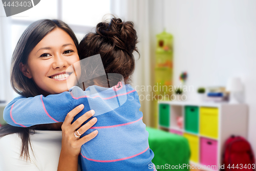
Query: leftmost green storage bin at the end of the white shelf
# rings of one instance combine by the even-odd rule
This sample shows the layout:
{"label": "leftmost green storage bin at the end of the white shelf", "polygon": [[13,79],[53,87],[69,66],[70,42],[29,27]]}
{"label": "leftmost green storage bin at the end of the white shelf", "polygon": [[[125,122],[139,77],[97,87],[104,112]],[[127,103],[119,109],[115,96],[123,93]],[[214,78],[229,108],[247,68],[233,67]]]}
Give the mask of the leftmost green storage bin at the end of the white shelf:
{"label": "leftmost green storage bin at the end of the white shelf", "polygon": [[159,124],[160,126],[170,126],[170,105],[159,104]]}

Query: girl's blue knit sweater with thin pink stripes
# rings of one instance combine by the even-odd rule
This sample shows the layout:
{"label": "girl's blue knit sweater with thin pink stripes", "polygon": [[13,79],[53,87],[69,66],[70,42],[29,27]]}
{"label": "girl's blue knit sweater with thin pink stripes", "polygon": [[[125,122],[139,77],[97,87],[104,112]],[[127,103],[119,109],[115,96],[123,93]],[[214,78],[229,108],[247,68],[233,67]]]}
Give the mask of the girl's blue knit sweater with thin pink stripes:
{"label": "girl's blue knit sweater with thin pink stripes", "polygon": [[129,84],[120,85],[120,88],[91,86],[86,91],[73,87],[69,92],[46,97],[17,97],[6,106],[4,119],[20,127],[63,122],[72,109],[84,104],[73,122],[94,110],[98,121],[81,137],[94,130],[98,130],[98,135],[81,147],[82,170],[152,170],[148,165],[153,165],[154,153],[148,146],[139,96]]}

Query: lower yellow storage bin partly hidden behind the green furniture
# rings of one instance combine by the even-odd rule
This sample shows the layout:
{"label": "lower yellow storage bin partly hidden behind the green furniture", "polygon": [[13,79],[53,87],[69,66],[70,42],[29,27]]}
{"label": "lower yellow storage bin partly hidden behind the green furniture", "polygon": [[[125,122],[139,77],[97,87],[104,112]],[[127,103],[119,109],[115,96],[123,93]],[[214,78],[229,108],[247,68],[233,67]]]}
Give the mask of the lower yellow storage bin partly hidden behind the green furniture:
{"label": "lower yellow storage bin partly hidden behind the green furniture", "polygon": [[199,162],[199,137],[192,134],[184,133],[183,136],[187,138],[190,148],[190,160]]}

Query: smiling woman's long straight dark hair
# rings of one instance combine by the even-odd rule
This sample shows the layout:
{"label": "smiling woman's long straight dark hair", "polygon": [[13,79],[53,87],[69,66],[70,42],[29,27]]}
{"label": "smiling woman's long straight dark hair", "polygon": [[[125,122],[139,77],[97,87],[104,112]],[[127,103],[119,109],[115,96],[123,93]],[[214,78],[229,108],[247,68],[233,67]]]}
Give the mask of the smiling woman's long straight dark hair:
{"label": "smiling woman's long straight dark hair", "polygon": [[[36,89],[36,85],[32,79],[24,76],[19,69],[19,63],[27,64],[28,56],[34,47],[53,29],[60,28],[67,32],[73,39],[76,48],[78,48],[78,41],[71,30],[71,28],[61,20],[57,19],[41,19],[32,23],[19,38],[18,43],[12,55],[11,61],[11,86],[13,90],[19,95],[25,97],[34,97],[40,93]],[[22,115],[22,114],[21,114]],[[24,156],[26,159],[29,157],[29,134],[30,130],[35,127],[15,127],[9,124],[0,127],[0,137],[9,134],[18,133],[22,139],[22,150],[20,157]],[[31,145],[31,144],[30,144]]]}

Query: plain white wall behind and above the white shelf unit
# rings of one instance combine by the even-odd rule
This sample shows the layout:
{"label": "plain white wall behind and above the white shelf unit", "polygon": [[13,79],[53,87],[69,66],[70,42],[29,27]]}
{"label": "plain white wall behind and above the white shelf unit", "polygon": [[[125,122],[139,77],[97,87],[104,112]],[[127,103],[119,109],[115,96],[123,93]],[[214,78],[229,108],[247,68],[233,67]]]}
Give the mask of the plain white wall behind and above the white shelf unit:
{"label": "plain white wall behind and above the white shelf unit", "polygon": [[179,74],[187,71],[186,84],[195,88],[187,92],[188,100],[197,99],[199,86],[225,86],[230,76],[242,78],[248,136],[256,153],[255,7],[254,0],[150,0],[151,52],[154,55],[155,35],[165,26],[175,38],[174,84],[179,85]]}

